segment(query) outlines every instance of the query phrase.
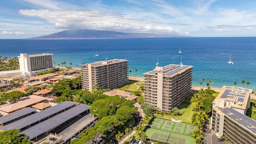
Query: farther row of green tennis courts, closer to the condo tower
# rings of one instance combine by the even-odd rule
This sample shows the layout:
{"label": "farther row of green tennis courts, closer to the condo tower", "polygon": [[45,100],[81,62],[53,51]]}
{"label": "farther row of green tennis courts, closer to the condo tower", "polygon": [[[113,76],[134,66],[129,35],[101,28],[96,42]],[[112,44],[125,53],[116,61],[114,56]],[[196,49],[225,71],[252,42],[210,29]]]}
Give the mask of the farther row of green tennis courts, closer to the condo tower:
{"label": "farther row of green tennis courts, closer to the condo tower", "polygon": [[170,120],[162,120],[158,118],[153,120],[150,126],[151,128],[154,128],[154,129],[164,130],[167,132],[174,132],[177,134],[184,134],[188,136],[190,136],[193,133],[193,131],[196,129],[196,127],[193,126],[192,124],[173,122]]}

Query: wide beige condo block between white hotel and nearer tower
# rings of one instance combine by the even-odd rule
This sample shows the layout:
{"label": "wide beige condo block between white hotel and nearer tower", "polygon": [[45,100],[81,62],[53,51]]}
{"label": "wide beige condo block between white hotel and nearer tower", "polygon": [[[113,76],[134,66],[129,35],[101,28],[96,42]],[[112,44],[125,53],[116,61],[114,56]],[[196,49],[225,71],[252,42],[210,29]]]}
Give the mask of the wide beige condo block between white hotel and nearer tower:
{"label": "wide beige condo block between white hotel and nearer tower", "polygon": [[128,60],[113,59],[81,66],[83,90],[91,91],[96,84],[104,89],[114,89],[129,82]]}

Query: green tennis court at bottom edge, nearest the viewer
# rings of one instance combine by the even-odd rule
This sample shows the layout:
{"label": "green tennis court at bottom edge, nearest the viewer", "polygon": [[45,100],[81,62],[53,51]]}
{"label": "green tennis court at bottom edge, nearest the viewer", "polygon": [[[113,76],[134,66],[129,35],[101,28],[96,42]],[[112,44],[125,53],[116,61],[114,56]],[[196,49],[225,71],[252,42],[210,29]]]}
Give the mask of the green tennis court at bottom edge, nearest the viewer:
{"label": "green tennis court at bottom edge, nearest the viewer", "polygon": [[150,140],[153,141],[160,141],[165,144],[186,144],[187,138],[181,138],[178,136],[172,136],[171,134],[162,134],[159,132],[153,132],[152,135],[150,136]]}

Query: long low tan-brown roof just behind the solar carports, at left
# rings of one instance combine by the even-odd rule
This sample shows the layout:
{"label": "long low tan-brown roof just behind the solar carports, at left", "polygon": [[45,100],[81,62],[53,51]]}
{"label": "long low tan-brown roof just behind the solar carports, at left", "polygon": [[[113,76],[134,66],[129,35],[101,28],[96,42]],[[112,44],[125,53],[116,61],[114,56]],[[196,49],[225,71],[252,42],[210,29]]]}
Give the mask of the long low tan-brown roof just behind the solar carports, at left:
{"label": "long low tan-brown roof just behind the solar carports, at left", "polygon": [[24,97],[22,99],[26,99],[26,100],[22,100],[20,102],[16,102],[16,103],[10,104],[8,106],[4,106],[4,107],[0,108],[0,111],[10,113],[10,112],[13,112],[13,111],[18,110],[18,109],[26,108],[27,106],[30,106],[31,104],[42,102],[44,100],[48,100],[48,101],[52,100],[51,98],[37,96],[37,95],[34,95],[34,94],[30,95],[28,97]]}

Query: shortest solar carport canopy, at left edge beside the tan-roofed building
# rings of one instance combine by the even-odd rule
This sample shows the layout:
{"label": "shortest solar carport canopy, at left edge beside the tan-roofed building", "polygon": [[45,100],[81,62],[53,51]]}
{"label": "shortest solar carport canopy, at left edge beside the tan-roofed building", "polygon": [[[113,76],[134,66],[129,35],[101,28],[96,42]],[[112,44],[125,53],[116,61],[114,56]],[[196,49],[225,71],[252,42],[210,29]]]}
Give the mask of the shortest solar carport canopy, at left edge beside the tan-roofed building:
{"label": "shortest solar carport canopy, at left edge beside the tan-roofed building", "polygon": [[0,124],[4,124],[6,122],[10,122],[12,120],[15,120],[16,118],[20,118],[22,116],[25,116],[26,114],[30,114],[32,112],[35,112],[36,109],[34,108],[24,108],[22,110],[19,110],[17,112],[13,112],[11,114],[8,114],[6,116],[0,117]]}

